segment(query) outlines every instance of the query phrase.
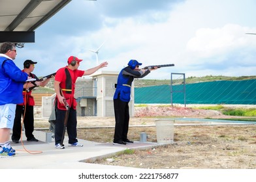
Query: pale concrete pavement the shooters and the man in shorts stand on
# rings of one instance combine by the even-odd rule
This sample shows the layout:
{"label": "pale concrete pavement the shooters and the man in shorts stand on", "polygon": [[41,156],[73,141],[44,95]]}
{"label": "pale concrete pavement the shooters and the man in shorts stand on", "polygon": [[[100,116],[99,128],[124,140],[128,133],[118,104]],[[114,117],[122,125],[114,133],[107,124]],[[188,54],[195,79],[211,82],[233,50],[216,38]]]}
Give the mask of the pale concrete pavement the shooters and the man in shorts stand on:
{"label": "pale concrete pavement the shooters and the man in shorts stand on", "polygon": [[[11,142],[12,148],[16,149],[14,157],[1,158],[0,169],[69,169],[69,168],[127,168],[122,166],[106,166],[101,164],[91,164],[82,161],[93,161],[99,157],[111,157],[119,151],[135,148],[150,148],[158,146],[156,143],[127,144],[125,146],[116,146],[112,143],[97,143],[87,140],[78,139],[84,144],[83,147],[69,147],[67,143],[68,137],[65,137],[63,144],[65,149],[56,149],[54,147],[54,139],[49,141],[46,133],[42,131],[34,131],[35,138],[39,142],[27,142],[24,133],[23,143],[18,144]],[[46,142],[47,141],[47,142]]]}

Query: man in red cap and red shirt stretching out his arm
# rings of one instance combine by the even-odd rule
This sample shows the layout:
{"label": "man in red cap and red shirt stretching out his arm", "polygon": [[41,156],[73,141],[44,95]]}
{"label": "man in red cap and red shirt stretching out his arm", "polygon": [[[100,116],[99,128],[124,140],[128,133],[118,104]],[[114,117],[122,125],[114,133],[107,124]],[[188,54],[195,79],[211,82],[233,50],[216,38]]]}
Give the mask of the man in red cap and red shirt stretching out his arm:
{"label": "man in red cap and red shirt stretching out his arm", "polygon": [[100,68],[108,66],[108,62],[103,62],[94,68],[88,70],[78,70],[80,62],[82,59],[71,56],[67,60],[68,66],[60,68],[56,72],[54,89],[56,91],[56,125],[55,125],[55,148],[63,149],[64,145],[61,145],[61,139],[64,129],[64,119],[66,114],[66,107],[64,101],[69,104],[69,116],[67,118],[67,135],[69,136],[69,146],[72,147],[82,147],[82,144],[78,143],[76,138],[76,99],[74,98],[74,88],[76,79],[84,75],[91,75],[95,73]]}

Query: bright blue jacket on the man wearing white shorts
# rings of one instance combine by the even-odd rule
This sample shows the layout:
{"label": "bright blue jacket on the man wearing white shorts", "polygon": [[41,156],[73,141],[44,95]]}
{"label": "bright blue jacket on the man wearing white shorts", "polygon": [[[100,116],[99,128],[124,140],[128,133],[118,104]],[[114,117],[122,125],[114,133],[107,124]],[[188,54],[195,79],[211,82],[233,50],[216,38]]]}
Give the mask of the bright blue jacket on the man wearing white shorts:
{"label": "bright blue jacket on the man wearing white shorts", "polygon": [[0,66],[0,105],[23,103],[22,90],[27,73],[6,57],[0,56]]}

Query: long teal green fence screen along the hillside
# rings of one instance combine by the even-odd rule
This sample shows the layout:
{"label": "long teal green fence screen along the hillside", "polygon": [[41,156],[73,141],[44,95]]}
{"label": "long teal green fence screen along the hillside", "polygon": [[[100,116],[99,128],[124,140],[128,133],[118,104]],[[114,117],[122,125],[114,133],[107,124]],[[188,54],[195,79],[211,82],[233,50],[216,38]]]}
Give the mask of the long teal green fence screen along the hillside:
{"label": "long teal green fence screen along the hillside", "polygon": [[[179,90],[181,85],[174,85]],[[256,79],[212,81],[185,85],[187,104],[256,104]],[[170,85],[135,88],[135,103],[170,103]],[[172,103],[184,103],[184,93],[174,92]]]}

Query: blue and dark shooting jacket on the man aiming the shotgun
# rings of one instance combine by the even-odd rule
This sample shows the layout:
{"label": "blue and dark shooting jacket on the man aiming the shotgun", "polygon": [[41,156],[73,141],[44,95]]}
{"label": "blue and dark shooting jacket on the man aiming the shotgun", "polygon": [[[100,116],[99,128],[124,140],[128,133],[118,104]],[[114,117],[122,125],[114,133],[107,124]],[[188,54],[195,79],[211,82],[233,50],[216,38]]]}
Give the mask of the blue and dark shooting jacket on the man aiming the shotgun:
{"label": "blue and dark shooting jacket on the man aiming the shotgun", "polygon": [[146,70],[143,74],[141,71],[132,70],[130,66],[123,68],[118,75],[114,99],[119,98],[121,101],[129,102],[131,100],[131,84],[133,79],[145,77],[148,73],[150,73],[150,70]]}

